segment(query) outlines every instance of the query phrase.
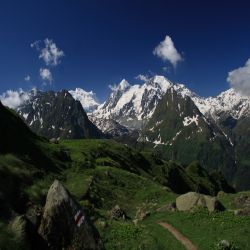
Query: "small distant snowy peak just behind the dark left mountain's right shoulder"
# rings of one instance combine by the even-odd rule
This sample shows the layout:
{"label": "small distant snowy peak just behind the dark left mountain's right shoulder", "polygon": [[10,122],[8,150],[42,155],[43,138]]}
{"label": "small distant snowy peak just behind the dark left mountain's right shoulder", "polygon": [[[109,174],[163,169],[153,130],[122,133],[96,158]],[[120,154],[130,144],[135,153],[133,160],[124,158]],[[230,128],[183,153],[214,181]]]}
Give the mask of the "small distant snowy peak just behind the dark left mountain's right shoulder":
{"label": "small distant snowy peak just behind the dark left mountain's right shoulder", "polygon": [[82,104],[87,113],[93,112],[100,105],[93,91],[87,92],[81,88],[76,88],[75,90],[69,90],[69,93]]}

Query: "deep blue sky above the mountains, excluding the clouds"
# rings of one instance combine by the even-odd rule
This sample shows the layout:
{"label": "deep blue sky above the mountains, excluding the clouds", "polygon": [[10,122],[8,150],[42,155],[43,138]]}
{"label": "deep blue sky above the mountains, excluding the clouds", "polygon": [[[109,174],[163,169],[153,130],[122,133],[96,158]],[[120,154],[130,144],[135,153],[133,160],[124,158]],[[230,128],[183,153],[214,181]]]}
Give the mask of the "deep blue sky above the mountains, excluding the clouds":
{"label": "deep blue sky above the mountains, excluding the clouds", "polygon": [[[229,88],[228,72],[250,57],[248,1],[1,0],[0,93],[81,87],[104,100],[108,85],[160,74],[202,96]],[[153,50],[170,36],[182,60],[174,68]],[[46,65],[31,44],[52,39],[64,56]],[[167,68],[164,71],[163,68]],[[24,77],[29,75],[30,81]]]}

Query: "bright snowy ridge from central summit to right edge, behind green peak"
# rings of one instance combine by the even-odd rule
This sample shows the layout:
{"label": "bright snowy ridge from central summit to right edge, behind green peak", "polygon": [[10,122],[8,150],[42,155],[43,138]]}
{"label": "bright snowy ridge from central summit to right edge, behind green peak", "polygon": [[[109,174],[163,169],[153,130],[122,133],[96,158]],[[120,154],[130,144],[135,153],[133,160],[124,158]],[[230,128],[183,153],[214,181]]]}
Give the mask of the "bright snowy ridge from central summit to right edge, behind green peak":
{"label": "bright snowy ridge from central summit to right edge, behind green peak", "polygon": [[234,89],[216,97],[200,97],[183,84],[173,84],[164,76],[154,76],[142,85],[130,85],[126,80],[112,88],[108,100],[93,112],[96,118],[114,119],[129,128],[140,129],[147,121],[166,91],[172,87],[182,96],[189,96],[200,112],[209,119],[218,120],[223,114],[234,119],[250,116],[250,97]]}

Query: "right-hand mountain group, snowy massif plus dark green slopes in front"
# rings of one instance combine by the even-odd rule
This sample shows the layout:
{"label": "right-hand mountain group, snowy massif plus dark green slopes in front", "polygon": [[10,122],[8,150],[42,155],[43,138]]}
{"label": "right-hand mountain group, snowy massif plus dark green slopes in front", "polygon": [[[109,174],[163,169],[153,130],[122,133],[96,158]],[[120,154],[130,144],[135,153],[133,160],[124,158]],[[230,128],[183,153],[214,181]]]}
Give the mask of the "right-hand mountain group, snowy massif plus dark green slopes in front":
{"label": "right-hand mountain group, snowy massif plus dark green slopes in front", "polygon": [[127,127],[128,133],[116,136],[119,142],[146,145],[184,165],[198,159],[209,171],[222,171],[237,190],[246,190],[249,105],[249,97],[234,89],[204,98],[184,84],[154,76],[141,85],[123,80],[89,116],[103,131],[113,129],[110,119],[117,129]]}

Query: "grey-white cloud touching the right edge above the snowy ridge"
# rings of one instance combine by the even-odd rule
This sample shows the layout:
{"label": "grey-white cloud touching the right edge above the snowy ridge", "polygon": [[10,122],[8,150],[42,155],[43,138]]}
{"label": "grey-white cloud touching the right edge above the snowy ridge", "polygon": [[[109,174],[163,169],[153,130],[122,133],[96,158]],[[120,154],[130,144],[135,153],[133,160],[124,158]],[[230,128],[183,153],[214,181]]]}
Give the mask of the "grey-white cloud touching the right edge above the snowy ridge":
{"label": "grey-white cloud touching the right edge above the snowy ridge", "polygon": [[250,58],[243,67],[229,72],[227,81],[236,91],[250,96]]}

